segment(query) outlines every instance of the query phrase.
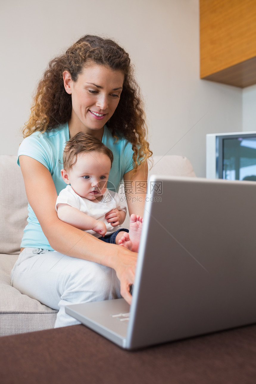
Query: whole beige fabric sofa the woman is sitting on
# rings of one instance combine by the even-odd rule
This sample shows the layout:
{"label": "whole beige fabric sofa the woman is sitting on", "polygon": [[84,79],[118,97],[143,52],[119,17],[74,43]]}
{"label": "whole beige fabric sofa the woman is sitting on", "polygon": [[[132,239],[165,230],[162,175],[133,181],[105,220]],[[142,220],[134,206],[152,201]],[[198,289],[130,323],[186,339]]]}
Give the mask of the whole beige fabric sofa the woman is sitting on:
{"label": "whole beige fabric sofa the woman is sitting on", "polygon": [[[16,160],[16,156],[0,155],[0,336],[53,328],[57,313],[11,286],[10,271],[18,258],[28,214]],[[195,176],[190,162],[182,156],[155,156],[154,164],[150,174]]]}

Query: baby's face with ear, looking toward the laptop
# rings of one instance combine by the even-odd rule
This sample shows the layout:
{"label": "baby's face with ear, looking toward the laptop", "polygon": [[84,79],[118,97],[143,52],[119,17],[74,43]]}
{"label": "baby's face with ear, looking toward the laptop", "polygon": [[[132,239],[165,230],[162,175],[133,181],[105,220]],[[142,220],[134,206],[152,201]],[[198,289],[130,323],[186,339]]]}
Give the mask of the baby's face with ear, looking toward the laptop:
{"label": "baby's face with ear, looking toward the laptop", "polygon": [[100,201],[107,189],[110,168],[111,160],[107,155],[92,151],[79,154],[66,177],[65,171],[62,175],[66,184],[70,184],[79,196]]}

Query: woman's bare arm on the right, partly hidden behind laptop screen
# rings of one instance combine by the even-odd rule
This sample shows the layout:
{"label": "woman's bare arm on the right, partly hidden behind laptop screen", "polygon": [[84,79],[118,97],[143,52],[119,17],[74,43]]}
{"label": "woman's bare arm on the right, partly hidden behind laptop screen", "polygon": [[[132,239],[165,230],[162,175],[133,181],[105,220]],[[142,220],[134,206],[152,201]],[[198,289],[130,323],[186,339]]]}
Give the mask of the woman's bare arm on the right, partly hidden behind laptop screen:
{"label": "woman's bare arm on the right, partly hidden behind laptop screen", "polygon": [[145,198],[147,192],[147,161],[140,163],[137,172],[132,175],[132,170],[124,174],[124,190],[129,215],[135,214],[143,217]]}

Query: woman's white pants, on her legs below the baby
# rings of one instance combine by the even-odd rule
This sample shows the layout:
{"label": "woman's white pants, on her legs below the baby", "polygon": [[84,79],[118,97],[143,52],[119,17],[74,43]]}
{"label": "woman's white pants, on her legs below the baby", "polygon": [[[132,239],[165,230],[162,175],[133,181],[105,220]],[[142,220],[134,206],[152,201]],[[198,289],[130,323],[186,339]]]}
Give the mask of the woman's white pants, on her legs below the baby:
{"label": "woman's white pants, on her legs below the baby", "polygon": [[121,297],[112,268],[40,248],[20,253],[11,280],[21,293],[59,310],[55,328],[80,324],[66,314],[68,304]]}

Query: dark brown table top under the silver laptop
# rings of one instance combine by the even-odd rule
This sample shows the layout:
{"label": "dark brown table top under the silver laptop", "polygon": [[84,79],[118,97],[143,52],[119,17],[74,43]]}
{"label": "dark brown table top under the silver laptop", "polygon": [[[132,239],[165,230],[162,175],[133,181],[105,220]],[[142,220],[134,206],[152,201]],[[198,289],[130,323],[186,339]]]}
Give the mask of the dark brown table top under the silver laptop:
{"label": "dark brown table top under the silver laptop", "polygon": [[1,384],[256,383],[256,325],[124,351],[83,325],[0,338]]}

